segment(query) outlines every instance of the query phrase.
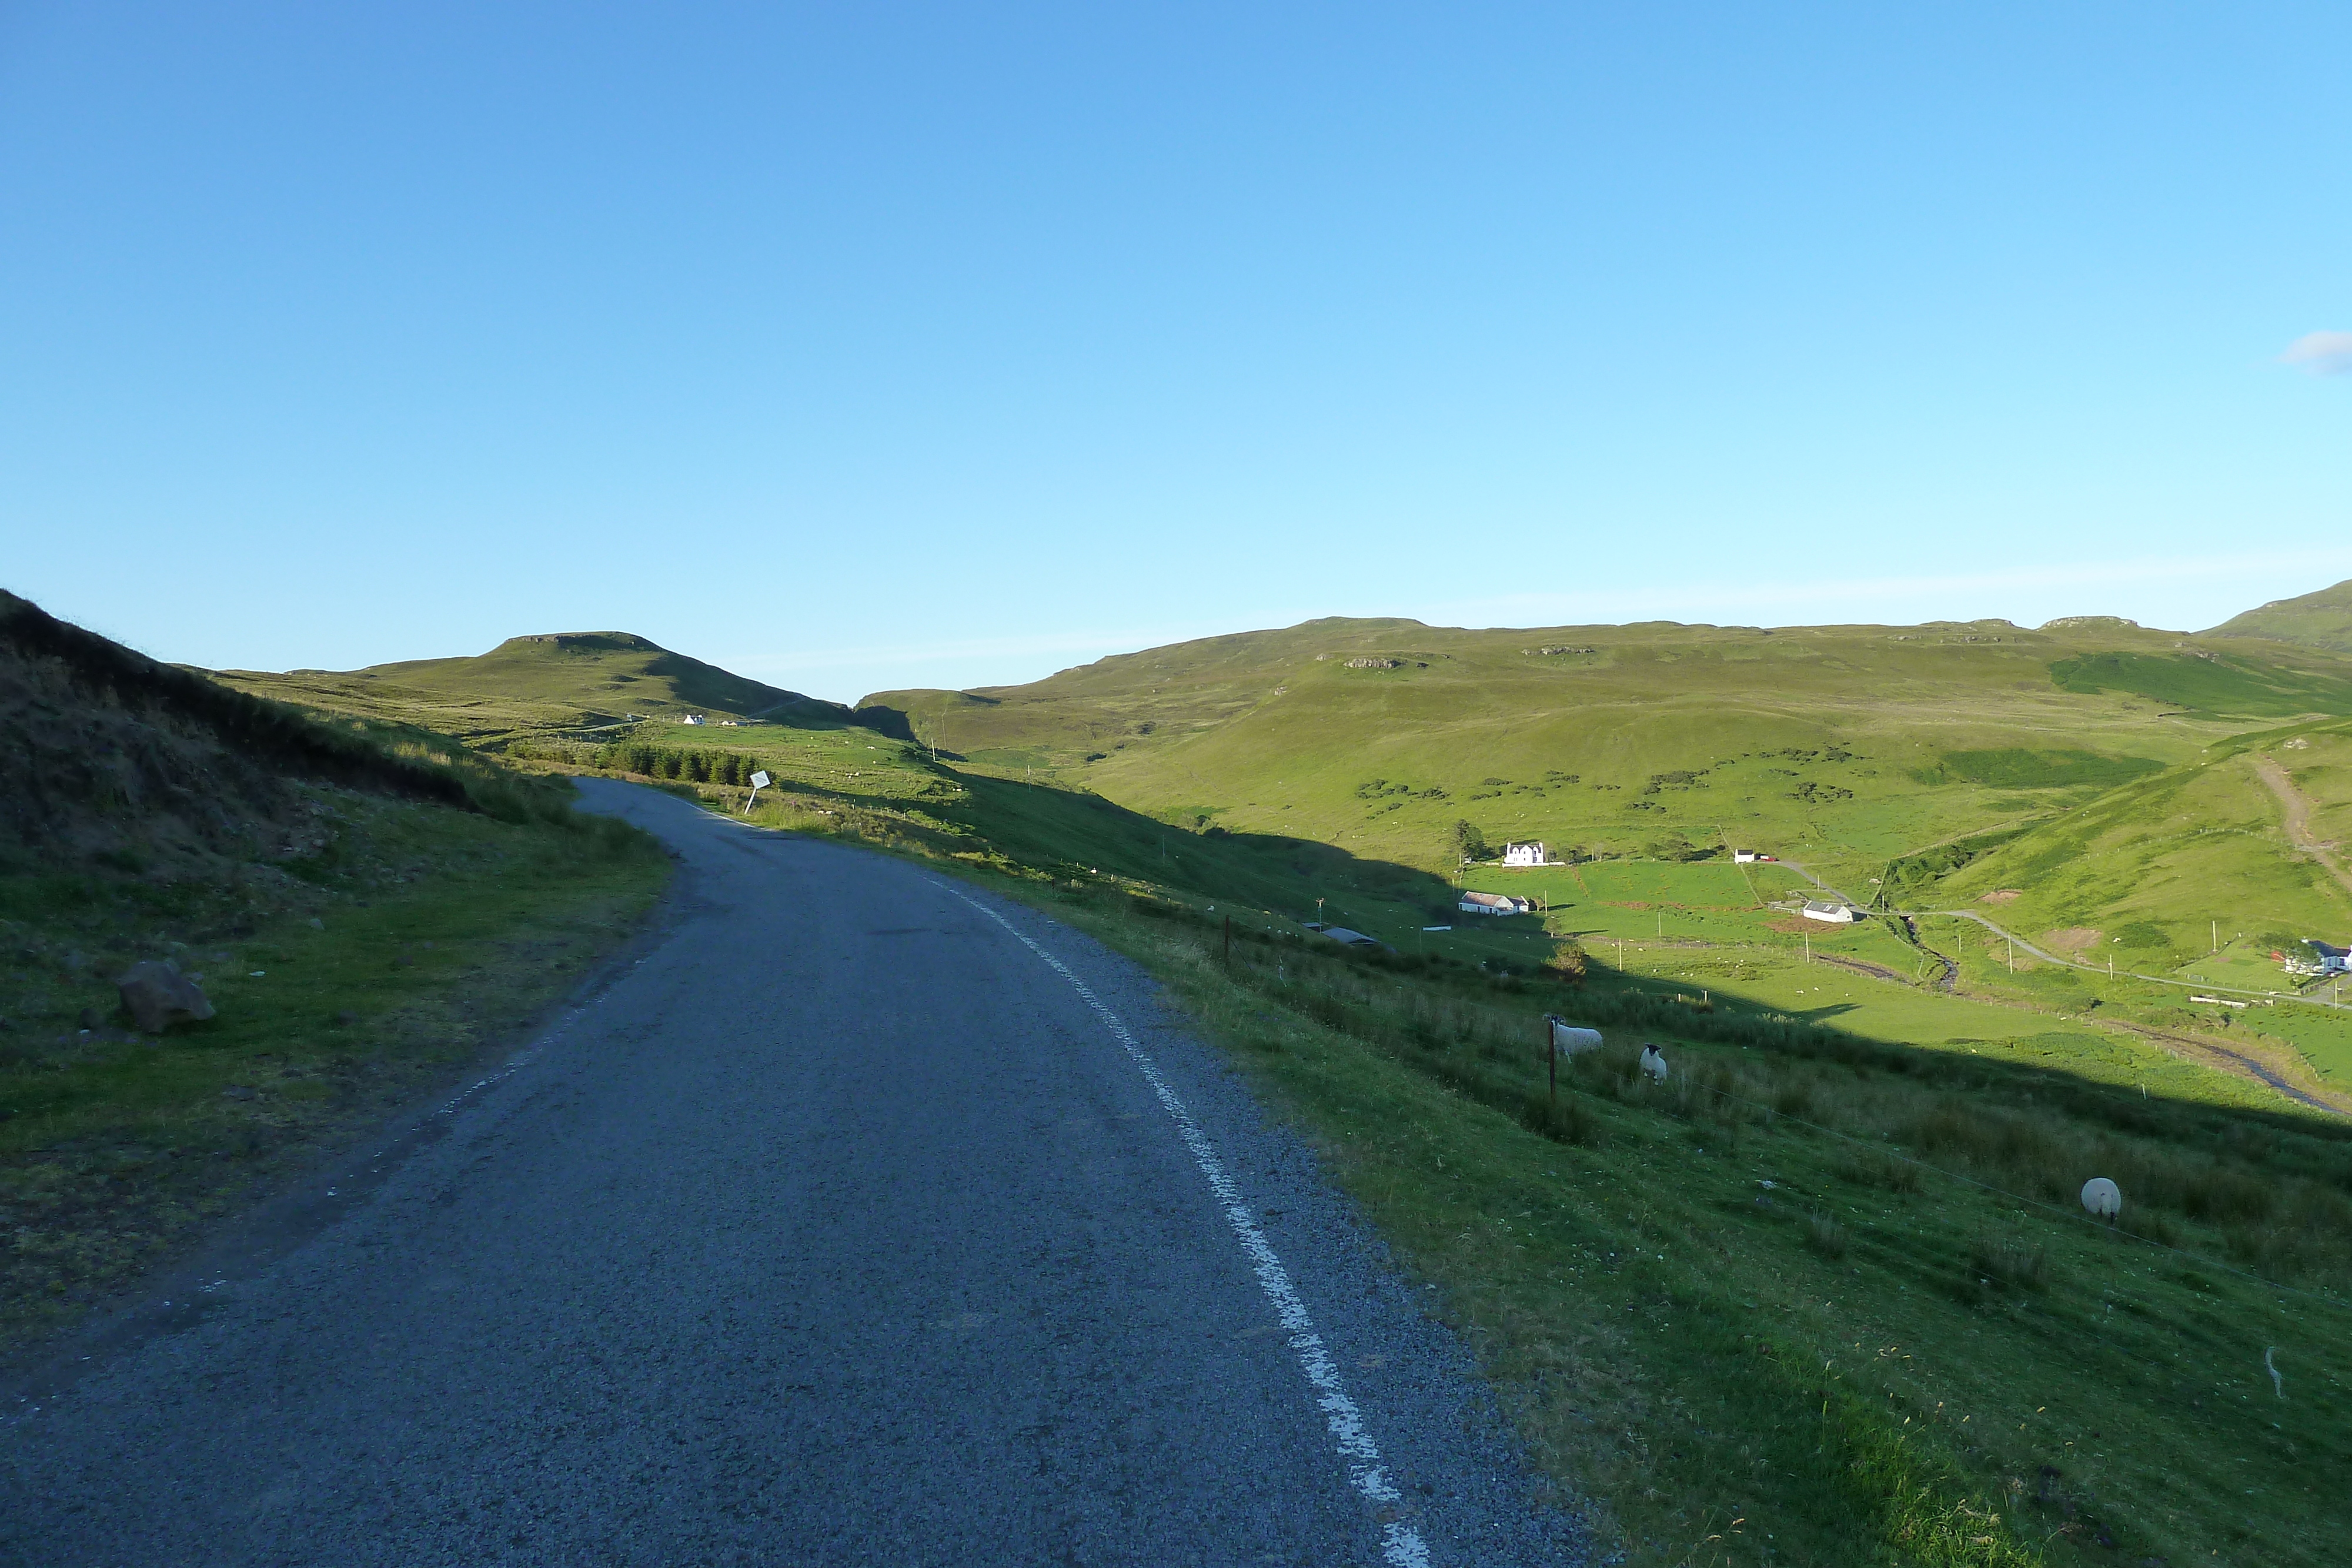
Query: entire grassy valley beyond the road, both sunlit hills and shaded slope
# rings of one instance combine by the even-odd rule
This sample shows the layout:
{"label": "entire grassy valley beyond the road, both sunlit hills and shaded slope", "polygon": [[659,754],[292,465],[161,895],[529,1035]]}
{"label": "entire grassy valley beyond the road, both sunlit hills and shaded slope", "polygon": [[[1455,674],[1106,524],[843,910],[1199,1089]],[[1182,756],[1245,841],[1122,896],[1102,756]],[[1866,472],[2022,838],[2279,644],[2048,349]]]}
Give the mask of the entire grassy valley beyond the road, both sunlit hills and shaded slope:
{"label": "entire grassy valley beyond the road, both sunlit hills and shaded slope", "polygon": [[[1628,1561],[2326,1561],[2352,1013],[2284,954],[2352,931],[2338,649],[1322,621],[856,708],[694,701],[621,632],[489,661],[223,679],[386,738],[466,717],[524,785],[640,780],[1094,933],[1319,1150]],[[1543,1013],[1606,1046],[1552,1077]]]}

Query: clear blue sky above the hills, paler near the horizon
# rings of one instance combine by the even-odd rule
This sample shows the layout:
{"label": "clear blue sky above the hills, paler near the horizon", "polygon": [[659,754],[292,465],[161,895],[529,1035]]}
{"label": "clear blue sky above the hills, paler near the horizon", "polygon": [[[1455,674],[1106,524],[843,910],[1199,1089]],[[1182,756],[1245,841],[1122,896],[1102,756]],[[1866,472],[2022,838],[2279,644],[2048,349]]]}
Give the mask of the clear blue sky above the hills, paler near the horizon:
{"label": "clear blue sky above the hills, paler near the horizon", "polygon": [[837,698],[1329,614],[2209,625],[2352,576],[2347,56],[0,2],[0,583],[207,665],[626,628]]}

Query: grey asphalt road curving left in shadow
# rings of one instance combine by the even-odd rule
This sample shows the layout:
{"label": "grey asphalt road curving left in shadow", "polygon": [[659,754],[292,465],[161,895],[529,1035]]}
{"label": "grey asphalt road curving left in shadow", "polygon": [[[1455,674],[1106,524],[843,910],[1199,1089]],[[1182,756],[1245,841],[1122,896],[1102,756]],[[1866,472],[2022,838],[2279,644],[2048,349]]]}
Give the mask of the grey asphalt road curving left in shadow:
{"label": "grey asphalt road curving left in shadow", "polygon": [[296,1194],[294,1244],[28,1389],[0,1561],[1585,1559],[1430,1298],[1134,966],[586,790],[680,853],[659,933]]}

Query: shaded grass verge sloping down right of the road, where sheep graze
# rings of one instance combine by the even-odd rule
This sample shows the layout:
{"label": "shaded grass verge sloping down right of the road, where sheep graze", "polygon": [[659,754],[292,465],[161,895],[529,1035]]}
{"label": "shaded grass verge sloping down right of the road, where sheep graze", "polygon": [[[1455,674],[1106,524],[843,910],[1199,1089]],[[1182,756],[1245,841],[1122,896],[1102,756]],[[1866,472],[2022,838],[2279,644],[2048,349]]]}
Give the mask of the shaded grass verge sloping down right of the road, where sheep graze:
{"label": "shaded grass verge sloping down right of the road, where sheep graze", "polygon": [[[1282,943],[1225,966],[1185,919],[1023,891],[1160,976],[1315,1140],[1630,1561],[2336,1559],[2338,1128],[1665,1030],[1611,1030],[1552,1112],[1531,1025],[1566,994]],[[2138,1234],[2037,1201],[2077,1168],[2131,1171]],[[2265,1185],[2314,1206],[2314,1251],[2246,1246],[2263,1225],[2227,1208]]]}

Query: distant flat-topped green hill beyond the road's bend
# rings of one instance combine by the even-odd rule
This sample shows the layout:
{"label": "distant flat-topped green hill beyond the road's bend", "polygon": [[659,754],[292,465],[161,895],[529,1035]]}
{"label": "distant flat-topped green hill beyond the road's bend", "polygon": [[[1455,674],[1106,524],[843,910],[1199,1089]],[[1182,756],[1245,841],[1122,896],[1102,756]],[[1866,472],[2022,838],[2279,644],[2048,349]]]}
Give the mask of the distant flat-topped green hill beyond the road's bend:
{"label": "distant flat-topped green hill beyond the road's bend", "polygon": [[746,679],[633,632],[508,637],[470,658],[412,658],[365,670],[223,670],[219,679],[287,703],[421,724],[466,741],[590,729],[703,712],[842,724],[849,710]]}

